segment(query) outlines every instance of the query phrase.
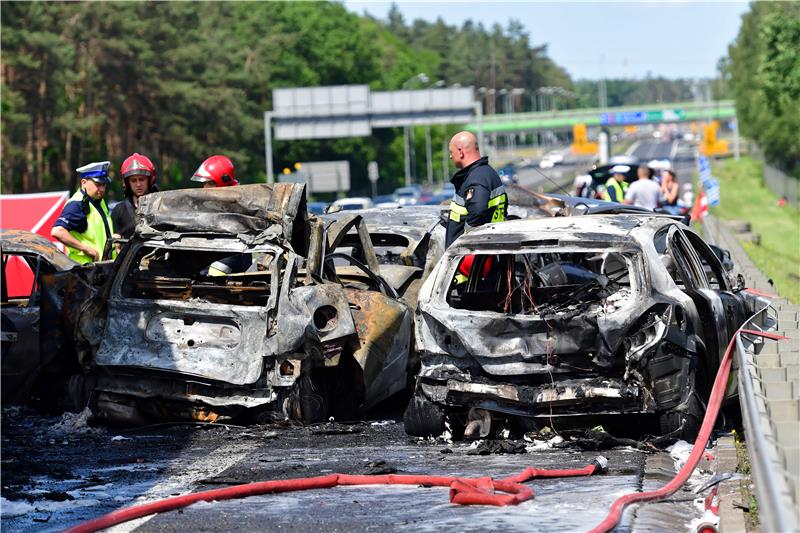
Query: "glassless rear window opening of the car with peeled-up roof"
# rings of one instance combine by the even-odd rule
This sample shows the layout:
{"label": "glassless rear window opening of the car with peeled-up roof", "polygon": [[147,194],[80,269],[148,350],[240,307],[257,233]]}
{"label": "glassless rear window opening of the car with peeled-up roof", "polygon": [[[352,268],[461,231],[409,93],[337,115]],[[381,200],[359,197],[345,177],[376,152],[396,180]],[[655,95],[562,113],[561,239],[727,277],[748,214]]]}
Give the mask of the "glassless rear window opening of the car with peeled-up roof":
{"label": "glassless rear window opening of the car with peeled-up roof", "polygon": [[185,250],[143,246],[131,263],[122,295],[127,298],[266,305],[272,263],[267,252]]}

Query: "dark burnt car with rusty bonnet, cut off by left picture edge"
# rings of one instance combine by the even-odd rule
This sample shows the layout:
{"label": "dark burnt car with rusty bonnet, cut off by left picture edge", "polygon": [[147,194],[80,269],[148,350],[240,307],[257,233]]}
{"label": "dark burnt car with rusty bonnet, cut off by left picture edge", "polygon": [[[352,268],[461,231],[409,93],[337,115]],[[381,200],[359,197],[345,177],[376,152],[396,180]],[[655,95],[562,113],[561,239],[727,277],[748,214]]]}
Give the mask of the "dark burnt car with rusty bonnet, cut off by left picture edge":
{"label": "dark burnt car with rusty bonnet, cut off by left picture edge", "polygon": [[[78,263],[41,235],[0,230],[2,258],[2,403],[28,403],[32,394],[50,398],[53,385],[76,369],[57,350],[42,350],[40,311],[43,277]],[[45,303],[45,305],[47,305]],[[56,387],[57,388],[57,387]]]}

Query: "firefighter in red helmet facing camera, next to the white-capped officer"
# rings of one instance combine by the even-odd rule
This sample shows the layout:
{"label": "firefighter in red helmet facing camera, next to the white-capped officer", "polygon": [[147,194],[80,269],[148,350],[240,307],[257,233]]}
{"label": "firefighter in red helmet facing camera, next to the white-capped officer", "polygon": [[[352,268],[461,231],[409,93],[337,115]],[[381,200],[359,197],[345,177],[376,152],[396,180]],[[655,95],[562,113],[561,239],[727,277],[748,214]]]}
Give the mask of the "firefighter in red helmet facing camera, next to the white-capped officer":
{"label": "firefighter in red helmet facing camera, next to the white-capped officer", "polygon": [[129,239],[136,227],[136,208],[139,207],[139,198],[158,190],[156,167],[147,156],[134,153],[122,162],[120,175],[125,200],[114,206],[111,211],[111,221],[116,230],[114,236]]}

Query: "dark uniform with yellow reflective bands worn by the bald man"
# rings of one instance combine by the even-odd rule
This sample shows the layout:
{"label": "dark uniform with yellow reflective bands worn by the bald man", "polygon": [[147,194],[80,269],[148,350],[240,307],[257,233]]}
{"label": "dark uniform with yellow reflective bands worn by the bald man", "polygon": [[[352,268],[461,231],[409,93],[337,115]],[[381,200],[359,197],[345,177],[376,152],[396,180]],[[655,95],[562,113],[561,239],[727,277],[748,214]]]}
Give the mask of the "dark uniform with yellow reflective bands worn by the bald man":
{"label": "dark uniform with yellow reflective bands worn by the bald man", "polygon": [[508,199],[500,176],[489,166],[489,158],[481,157],[460,169],[450,179],[456,194],[450,202],[446,246],[465,230],[506,219]]}

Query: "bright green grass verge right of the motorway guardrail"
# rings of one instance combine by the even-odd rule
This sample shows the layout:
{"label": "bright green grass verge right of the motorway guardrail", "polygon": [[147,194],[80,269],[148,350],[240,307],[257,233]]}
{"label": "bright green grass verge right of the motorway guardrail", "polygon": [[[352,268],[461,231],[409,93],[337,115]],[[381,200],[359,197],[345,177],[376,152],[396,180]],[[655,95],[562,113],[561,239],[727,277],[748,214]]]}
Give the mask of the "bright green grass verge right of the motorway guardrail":
{"label": "bright green grass verge right of the motorway guardrail", "polygon": [[746,220],[761,243],[743,242],[753,263],[775,284],[775,290],[800,303],[800,211],[778,206],[778,196],[764,185],[762,164],[750,157],[712,164],[720,183],[720,205],[711,213],[722,220]]}

